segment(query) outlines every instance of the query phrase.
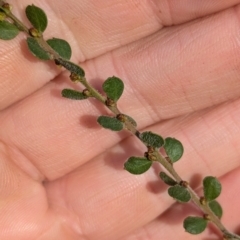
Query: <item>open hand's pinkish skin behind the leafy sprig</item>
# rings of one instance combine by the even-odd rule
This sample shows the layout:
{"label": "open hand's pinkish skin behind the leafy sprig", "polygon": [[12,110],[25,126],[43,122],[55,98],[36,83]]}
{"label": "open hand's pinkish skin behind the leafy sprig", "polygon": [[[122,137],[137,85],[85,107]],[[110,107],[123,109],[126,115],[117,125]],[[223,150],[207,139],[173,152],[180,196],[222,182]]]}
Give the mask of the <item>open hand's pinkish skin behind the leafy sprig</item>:
{"label": "open hand's pinkish skin behind the leafy sprig", "polygon": [[[24,23],[27,4],[44,9],[45,39],[67,40],[71,60],[97,89],[120,77],[119,108],[141,131],[183,143],[175,168],[194,188],[205,176],[219,178],[222,221],[238,230],[240,0],[10,4]],[[0,239],[218,239],[214,228],[184,231],[184,218],[201,213],[168,196],[159,165],[139,176],[123,170],[144,146],[98,126],[108,114],[100,103],[62,98],[63,88],[82,87],[34,58],[25,38],[0,41]]]}

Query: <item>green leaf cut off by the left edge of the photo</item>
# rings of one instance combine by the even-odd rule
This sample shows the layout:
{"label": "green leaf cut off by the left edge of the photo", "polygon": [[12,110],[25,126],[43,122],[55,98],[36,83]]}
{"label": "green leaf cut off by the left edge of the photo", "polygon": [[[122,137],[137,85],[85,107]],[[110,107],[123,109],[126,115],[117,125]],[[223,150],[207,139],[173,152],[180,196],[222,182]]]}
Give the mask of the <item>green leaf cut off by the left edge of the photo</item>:
{"label": "green leaf cut off by the left edge of the photo", "polygon": [[19,33],[18,28],[10,22],[0,21],[0,39],[11,40]]}

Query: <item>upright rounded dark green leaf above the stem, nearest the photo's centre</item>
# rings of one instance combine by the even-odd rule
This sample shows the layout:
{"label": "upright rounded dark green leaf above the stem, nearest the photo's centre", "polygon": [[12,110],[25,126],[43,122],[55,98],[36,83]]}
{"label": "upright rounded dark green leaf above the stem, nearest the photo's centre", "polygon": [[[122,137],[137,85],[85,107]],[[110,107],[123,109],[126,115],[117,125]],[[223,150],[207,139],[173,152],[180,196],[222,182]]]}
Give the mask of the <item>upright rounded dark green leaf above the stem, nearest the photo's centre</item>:
{"label": "upright rounded dark green leaf above the stem, nearest the photo's centre", "polygon": [[103,83],[103,91],[107,94],[108,98],[117,101],[124,89],[123,81],[120,78],[117,77],[109,77],[104,83]]}

